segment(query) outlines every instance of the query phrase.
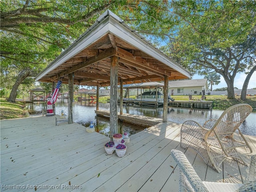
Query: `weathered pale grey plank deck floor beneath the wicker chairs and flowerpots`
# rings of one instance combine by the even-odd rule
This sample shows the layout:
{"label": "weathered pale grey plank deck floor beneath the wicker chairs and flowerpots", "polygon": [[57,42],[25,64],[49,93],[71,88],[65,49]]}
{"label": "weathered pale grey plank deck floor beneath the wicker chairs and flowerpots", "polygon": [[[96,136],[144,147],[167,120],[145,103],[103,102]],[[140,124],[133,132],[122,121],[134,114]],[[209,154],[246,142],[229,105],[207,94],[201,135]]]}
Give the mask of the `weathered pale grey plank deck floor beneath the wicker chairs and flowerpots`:
{"label": "weathered pale grey plank deck floor beneath the wicker chairs and flowerpots", "polygon": [[[80,124],[55,126],[55,116],[1,120],[1,191],[178,191],[172,149],[184,152],[202,180],[245,182],[248,168],[225,161],[223,172],[180,148],[180,126],[160,123],[130,137],[123,158],[106,155],[109,138]],[[246,136],[256,153],[255,137]],[[249,162],[249,156],[245,156]],[[15,186],[14,186],[15,185]],[[16,187],[6,189],[5,186]],[[24,189],[17,189],[24,186]],[[60,189],[58,189],[60,186]],[[47,189],[40,189],[47,188]]]}

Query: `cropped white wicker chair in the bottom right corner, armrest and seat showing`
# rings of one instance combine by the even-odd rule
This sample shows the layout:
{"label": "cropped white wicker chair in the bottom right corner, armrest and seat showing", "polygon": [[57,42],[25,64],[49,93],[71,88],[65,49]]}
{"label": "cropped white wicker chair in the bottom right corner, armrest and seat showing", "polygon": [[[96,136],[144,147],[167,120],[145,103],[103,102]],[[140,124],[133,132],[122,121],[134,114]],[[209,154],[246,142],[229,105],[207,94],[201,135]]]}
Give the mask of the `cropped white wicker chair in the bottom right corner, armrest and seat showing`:
{"label": "cropped white wicker chair in the bottom right corner, armrest and seat showing", "polygon": [[[180,178],[179,178],[179,192],[252,192],[256,190],[255,172],[254,175],[250,175],[250,179],[246,184],[236,183],[218,183],[218,182],[205,182],[200,179],[196,171],[184,155],[179,150],[172,150],[171,155],[175,162],[180,167]],[[250,164],[250,168],[255,171],[256,155],[252,156],[253,164]],[[249,176],[248,176],[249,179]]]}

